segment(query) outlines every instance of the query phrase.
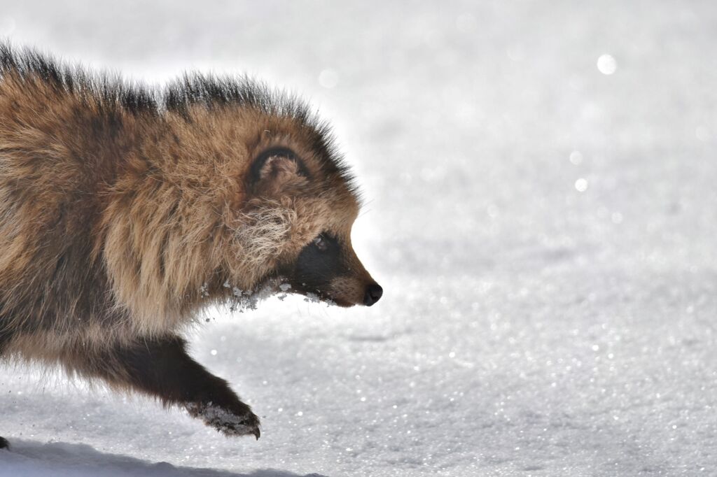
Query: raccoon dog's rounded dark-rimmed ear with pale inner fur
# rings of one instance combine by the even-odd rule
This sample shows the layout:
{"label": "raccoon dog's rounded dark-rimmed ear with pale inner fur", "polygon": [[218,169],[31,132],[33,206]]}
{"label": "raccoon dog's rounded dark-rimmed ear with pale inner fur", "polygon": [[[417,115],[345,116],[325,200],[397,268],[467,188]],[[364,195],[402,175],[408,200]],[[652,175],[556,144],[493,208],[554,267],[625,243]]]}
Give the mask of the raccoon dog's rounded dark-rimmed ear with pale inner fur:
{"label": "raccoon dog's rounded dark-rimmed ear with pale inner fur", "polygon": [[250,183],[252,191],[275,195],[291,186],[303,184],[309,171],[303,160],[289,148],[270,148],[262,152],[252,164]]}

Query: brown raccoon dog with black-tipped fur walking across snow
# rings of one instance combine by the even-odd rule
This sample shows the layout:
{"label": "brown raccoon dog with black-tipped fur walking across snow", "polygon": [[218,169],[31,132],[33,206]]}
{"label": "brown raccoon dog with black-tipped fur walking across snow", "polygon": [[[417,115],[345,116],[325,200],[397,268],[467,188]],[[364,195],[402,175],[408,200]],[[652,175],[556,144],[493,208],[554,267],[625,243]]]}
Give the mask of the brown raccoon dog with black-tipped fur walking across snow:
{"label": "brown raccoon dog with black-tipped fur walking across snow", "polygon": [[259,438],[180,332],[269,283],[376,303],[358,211],[328,128],[292,97],[201,74],[151,90],[0,44],[0,357]]}

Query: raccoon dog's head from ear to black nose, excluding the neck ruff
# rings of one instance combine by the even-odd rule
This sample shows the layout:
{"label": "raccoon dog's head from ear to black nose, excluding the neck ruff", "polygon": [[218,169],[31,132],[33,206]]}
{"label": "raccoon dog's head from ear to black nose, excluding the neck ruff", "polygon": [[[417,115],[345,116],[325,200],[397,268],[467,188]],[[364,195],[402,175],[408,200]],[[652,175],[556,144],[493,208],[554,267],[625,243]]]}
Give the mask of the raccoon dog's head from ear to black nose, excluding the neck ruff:
{"label": "raccoon dog's head from ear to black nose, excluding the neck ruff", "polygon": [[249,152],[237,253],[288,291],[343,307],[378,302],[383,289],[351,246],[356,191],[326,130],[271,118]]}

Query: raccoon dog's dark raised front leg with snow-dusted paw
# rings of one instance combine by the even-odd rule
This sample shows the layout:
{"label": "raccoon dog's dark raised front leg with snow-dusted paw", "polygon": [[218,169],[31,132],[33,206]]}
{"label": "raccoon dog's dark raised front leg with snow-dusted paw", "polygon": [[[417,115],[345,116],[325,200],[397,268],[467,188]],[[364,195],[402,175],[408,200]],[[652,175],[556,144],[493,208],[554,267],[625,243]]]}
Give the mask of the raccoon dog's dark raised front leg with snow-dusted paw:
{"label": "raccoon dog's dark raised front leg with snow-dusted paw", "polygon": [[138,340],[115,347],[91,374],[156,396],[164,405],[180,405],[225,435],[258,439],[259,418],[251,408],[226,381],[192,360],[185,348],[184,339],[176,336]]}

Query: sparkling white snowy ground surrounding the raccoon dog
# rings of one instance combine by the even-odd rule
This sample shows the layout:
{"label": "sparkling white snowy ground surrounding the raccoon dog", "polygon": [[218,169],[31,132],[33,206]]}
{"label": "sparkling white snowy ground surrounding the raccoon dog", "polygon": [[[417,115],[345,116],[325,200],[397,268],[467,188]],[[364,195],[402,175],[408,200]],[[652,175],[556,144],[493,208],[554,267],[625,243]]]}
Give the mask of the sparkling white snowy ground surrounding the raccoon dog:
{"label": "sparkling white snowy ground surrounding the raccoon dog", "polygon": [[18,44],[309,97],[386,290],[196,331],[257,442],[0,368],[1,476],[717,474],[715,4],[0,3]]}

